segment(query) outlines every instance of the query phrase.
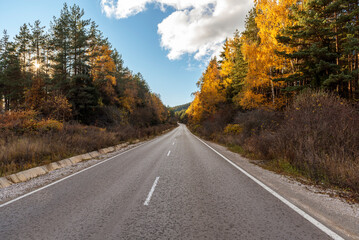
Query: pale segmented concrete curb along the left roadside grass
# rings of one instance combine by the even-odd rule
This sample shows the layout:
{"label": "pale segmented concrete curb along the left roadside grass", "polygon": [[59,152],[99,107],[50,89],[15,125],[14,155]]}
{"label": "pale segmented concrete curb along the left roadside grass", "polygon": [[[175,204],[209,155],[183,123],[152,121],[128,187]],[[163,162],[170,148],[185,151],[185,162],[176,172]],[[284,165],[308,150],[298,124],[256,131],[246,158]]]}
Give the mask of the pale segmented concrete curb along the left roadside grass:
{"label": "pale segmented concrete curb along the left roadside grass", "polygon": [[[138,142],[140,142],[140,140],[136,140],[135,142],[138,143]],[[11,186],[12,184],[16,184],[16,183],[20,183],[20,182],[26,182],[32,178],[36,178],[38,176],[44,175],[44,174],[54,171],[56,169],[68,167],[68,166],[74,165],[74,164],[82,162],[82,161],[87,161],[90,159],[97,158],[103,154],[121,150],[122,148],[125,148],[128,145],[129,145],[129,143],[127,143],[127,142],[122,143],[122,144],[116,145],[114,147],[103,148],[98,151],[85,153],[82,155],[63,159],[63,160],[60,160],[57,162],[52,162],[52,163],[49,163],[49,164],[46,164],[43,166],[30,168],[25,171],[11,174],[9,176],[1,177],[0,178],[0,188],[6,188],[6,187]]]}

